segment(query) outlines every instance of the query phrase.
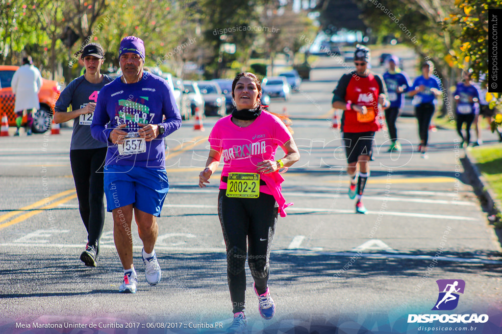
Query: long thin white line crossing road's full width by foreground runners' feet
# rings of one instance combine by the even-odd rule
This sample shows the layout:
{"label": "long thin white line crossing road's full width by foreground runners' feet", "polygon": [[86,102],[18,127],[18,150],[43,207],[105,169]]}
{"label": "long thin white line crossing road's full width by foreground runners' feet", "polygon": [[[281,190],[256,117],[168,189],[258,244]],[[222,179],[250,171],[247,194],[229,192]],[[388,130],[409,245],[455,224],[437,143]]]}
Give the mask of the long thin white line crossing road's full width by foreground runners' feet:
{"label": "long thin white line crossing road's full width by foreground runners' feet", "polygon": [[[0,247],[39,247],[33,243],[0,243]],[[54,247],[54,248],[83,248],[83,244],[62,244],[62,243],[49,243],[45,244],[44,247]],[[100,248],[115,249],[114,245],[100,245]],[[142,250],[143,246],[133,245],[133,249],[137,252]],[[163,251],[173,251],[173,252],[215,252],[215,253],[225,253],[224,247],[212,248],[212,247],[169,247],[169,246],[155,246],[156,250]],[[482,258],[463,258],[463,257],[449,257],[449,256],[439,256],[434,257],[430,255],[408,255],[408,254],[386,254],[386,253],[363,253],[363,252],[327,252],[319,250],[305,250],[305,249],[277,249],[273,250],[274,254],[299,254],[299,255],[326,255],[326,256],[345,256],[352,257],[354,255],[367,258],[403,258],[403,259],[415,259],[415,260],[433,260],[438,259],[448,262],[466,262],[466,263],[483,263],[483,264],[502,264],[502,261],[497,260],[486,260]],[[118,261],[118,260],[117,260]]]}

